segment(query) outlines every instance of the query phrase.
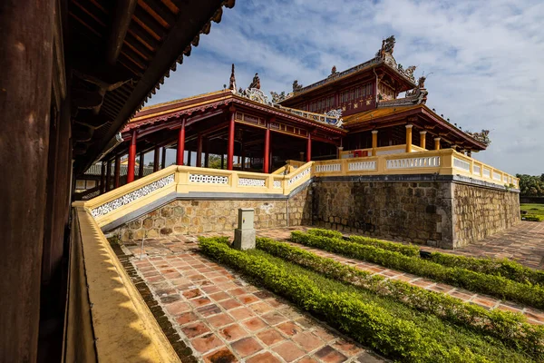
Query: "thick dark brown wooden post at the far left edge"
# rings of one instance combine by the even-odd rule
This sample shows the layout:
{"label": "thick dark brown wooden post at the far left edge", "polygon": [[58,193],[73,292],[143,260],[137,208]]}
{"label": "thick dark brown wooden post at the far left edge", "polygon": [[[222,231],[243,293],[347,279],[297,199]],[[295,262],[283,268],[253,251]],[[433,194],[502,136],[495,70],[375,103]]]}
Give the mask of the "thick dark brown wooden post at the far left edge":
{"label": "thick dark brown wooden post at the far left edge", "polygon": [[[37,359],[53,0],[0,5],[0,361]],[[9,170],[9,172],[7,172]]]}

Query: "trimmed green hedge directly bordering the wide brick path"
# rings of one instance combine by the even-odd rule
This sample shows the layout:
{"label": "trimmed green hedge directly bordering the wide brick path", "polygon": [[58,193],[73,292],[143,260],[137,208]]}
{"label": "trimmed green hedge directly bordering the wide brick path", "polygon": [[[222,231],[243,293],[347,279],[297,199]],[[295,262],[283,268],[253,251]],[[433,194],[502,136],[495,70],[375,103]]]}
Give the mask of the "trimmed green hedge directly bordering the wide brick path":
{"label": "trimmed green hedge directly bordering the wide brick path", "polygon": [[[394,311],[384,309],[374,303],[359,299],[356,293],[331,292],[323,289],[304,273],[291,273],[277,264],[258,255],[231,249],[228,244],[214,239],[200,239],[200,250],[207,256],[219,260],[248,276],[258,280],[267,289],[292,300],[306,309],[339,326],[349,336],[370,346],[384,355],[403,362],[490,362],[494,361],[498,349],[492,348],[489,340],[466,336],[466,344],[446,346],[437,337],[443,338],[442,326],[437,328],[429,320],[428,324],[416,324],[410,319],[397,318]],[[339,283],[342,285],[341,283]],[[326,292],[324,292],[326,290]],[[452,331],[452,334],[459,334]],[[462,340],[462,339],[461,339]],[[495,344],[500,342],[495,341]],[[482,354],[474,353],[478,346]],[[492,350],[490,350],[492,349]],[[506,354],[506,353],[504,353]],[[514,355],[516,358],[512,358]],[[512,360],[514,359],[514,360]],[[518,353],[509,353],[502,361],[527,361]],[[529,359],[530,360],[530,359]]]}

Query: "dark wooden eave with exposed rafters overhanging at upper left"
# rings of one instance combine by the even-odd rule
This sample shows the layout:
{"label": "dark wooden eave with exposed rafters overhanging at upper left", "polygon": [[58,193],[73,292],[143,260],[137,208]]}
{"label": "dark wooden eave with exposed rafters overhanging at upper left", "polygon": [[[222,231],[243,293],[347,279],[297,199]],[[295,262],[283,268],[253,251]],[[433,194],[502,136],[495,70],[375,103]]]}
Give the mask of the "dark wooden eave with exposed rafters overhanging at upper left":
{"label": "dark wooden eave with exposed rafters overhanging at upper left", "polygon": [[[74,164],[76,173],[94,162],[176,64],[182,63],[183,55],[199,44],[199,34],[209,34],[211,22],[219,23],[222,6],[230,8],[234,0],[120,0],[115,4],[118,6],[106,0],[69,0],[73,69],[79,70],[78,62],[83,60],[92,64],[85,75],[94,76],[96,69],[114,73],[122,69],[131,74],[131,83],[107,89],[103,101],[93,106],[98,110],[96,116],[105,116],[108,122],[94,132],[92,140],[75,140],[75,149],[83,151]],[[85,55],[88,49],[95,53]],[[78,117],[79,113],[76,121]]]}

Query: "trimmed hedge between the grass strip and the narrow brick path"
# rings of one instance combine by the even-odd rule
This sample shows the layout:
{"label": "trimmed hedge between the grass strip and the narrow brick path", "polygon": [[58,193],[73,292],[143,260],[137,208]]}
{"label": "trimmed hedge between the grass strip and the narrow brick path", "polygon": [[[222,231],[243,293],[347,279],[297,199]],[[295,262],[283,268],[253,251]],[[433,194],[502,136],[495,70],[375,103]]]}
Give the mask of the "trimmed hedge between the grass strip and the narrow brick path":
{"label": "trimmed hedge between the grass strip and the narrow brick path", "polygon": [[392,297],[410,308],[430,312],[454,324],[504,339],[510,347],[528,352],[539,361],[544,360],[544,328],[525,322],[526,319],[521,314],[483,309],[461,299],[422,289],[404,281],[386,280],[383,276],[373,276],[364,270],[317,256],[285,242],[257,238],[257,249],[322,273],[328,278]]}

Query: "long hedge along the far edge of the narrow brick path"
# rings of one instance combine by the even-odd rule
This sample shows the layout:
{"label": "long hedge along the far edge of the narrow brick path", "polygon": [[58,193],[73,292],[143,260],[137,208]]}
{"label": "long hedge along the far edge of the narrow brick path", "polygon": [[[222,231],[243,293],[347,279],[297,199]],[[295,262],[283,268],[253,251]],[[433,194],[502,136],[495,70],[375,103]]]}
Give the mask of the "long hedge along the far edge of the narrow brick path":
{"label": "long hedge along the far edge of the narrow brick path", "polygon": [[534,308],[544,308],[544,288],[538,285],[531,286],[501,276],[487,275],[459,267],[445,267],[429,260],[404,256],[391,250],[305,234],[300,231],[291,232],[291,240],[358,260],[374,262],[386,268],[410,272],[463,289],[489,294],[500,299],[517,301]]}

